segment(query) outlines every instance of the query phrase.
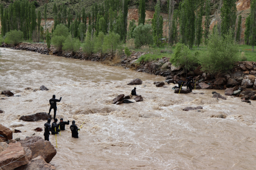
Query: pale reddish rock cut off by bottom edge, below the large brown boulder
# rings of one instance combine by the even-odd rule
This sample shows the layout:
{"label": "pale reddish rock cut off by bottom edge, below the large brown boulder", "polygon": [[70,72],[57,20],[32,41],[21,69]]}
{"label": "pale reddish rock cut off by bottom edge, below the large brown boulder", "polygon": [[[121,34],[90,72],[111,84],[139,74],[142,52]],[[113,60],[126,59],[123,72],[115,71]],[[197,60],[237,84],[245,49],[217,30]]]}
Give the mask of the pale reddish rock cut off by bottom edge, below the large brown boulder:
{"label": "pale reddish rock cut off by bottom edge, below the large brown boulder", "polygon": [[27,165],[21,167],[18,170],[55,170],[55,167],[46,163],[43,157],[38,156],[32,159]]}

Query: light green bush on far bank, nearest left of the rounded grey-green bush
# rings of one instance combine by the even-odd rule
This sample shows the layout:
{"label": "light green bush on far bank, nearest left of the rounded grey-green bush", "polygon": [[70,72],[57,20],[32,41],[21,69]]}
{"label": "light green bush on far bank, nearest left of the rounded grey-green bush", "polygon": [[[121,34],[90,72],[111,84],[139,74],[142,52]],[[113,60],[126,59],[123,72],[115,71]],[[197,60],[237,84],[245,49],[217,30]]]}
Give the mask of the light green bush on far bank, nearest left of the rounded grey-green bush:
{"label": "light green bush on far bank, nearest left of the rounded grey-green bush", "polygon": [[119,45],[120,42],[120,35],[117,33],[110,32],[109,35],[104,37],[104,42],[103,42],[103,51],[104,52],[110,52],[112,58],[115,55],[115,52],[117,51],[117,46]]}

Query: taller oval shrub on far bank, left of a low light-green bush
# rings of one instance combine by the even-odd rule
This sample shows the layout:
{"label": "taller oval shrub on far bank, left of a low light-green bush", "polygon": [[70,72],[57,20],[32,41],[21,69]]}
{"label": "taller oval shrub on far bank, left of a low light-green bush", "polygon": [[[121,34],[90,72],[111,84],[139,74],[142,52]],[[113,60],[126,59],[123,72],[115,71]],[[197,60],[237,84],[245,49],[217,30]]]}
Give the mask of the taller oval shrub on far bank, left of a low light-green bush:
{"label": "taller oval shrub on far bank, left of a low light-green bush", "polygon": [[69,29],[64,24],[59,24],[56,26],[52,36],[52,44],[58,51],[62,50],[63,43],[68,36]]}

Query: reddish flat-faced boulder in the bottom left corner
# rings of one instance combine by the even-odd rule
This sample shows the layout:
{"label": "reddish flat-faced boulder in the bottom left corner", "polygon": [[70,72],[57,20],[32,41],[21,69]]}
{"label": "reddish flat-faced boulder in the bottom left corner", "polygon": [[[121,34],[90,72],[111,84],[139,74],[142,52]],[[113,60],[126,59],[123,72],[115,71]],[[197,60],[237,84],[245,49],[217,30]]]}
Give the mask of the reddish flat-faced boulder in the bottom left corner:
{"label": "reddish flat-faced boulder in the bottom left corner", "polygon": [[28,164],[28,157],[19,142],[9,144],[8,148],[0,152],[0,167],[3,166],[2,170],[13,170],[26,164]]}

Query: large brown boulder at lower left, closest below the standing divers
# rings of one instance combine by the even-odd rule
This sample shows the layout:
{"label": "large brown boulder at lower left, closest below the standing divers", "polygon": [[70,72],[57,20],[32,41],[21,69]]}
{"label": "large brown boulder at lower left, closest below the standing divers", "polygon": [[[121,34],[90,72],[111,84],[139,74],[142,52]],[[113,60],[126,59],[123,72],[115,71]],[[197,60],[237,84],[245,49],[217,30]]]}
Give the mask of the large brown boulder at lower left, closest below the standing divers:
{"label": "large brown boulder at lower left, closest below the standing divers", "polygon": [[39,136],[26,137],[20,140],[23,147],[28,147],[32,151],[32,158],[42,156],[47,163],[52,161],[57,151],[54,146]]}

